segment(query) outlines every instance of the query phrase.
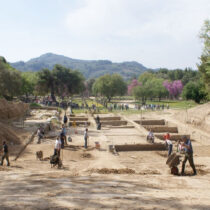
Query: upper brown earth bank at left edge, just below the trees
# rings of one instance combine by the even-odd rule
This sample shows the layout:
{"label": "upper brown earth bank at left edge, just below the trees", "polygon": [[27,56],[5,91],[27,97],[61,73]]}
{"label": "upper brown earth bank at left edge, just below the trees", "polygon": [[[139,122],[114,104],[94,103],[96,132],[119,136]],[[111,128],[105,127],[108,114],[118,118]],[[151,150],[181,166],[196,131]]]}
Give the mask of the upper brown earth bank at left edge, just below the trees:
{"label": "upper brown earth bank at left edge, just below the trees", "polygon": [[0,119],[18,119],[29,109],[29,104],[22,102],[9,102],[5,99],[0,99]]}

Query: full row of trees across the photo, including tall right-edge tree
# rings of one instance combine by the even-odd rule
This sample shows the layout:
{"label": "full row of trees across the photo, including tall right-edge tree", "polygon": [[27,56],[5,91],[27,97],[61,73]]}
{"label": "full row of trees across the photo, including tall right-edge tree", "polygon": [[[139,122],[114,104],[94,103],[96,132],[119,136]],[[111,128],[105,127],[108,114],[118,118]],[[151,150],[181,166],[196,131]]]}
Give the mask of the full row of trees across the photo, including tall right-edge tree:
{"label": "full row of trees across the photo, including tall right-edge tree", "polygon": [[20,72],[0,57],[0,97],[11,100],[14,96],[47,95],[53,101],[56,95],[69,97],[74,94],[94,95],[110,101],[114,96],[133,95],[135,99],[170,98],[191,99],[197,103],[210,99],[210,21],[206,20],[200,38],[204,48],[198,64],[198,71],[168,70],[161,68],[148,71],[138,78],[125,81],[119,74],[107,74],[97,79],[85,78],[79,71],[61,65],[52,70]]}

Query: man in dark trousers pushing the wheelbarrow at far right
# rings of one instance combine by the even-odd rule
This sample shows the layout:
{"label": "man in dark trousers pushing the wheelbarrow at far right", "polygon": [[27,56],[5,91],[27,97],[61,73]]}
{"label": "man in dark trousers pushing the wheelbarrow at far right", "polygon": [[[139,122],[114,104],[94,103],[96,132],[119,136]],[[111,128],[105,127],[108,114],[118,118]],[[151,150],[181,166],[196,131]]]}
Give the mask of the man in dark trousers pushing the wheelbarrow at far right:
{"label": "man in dark trousers pushing the wheelbarrow at far right", "polygon": [[184,160],[182,162],[181,175],[184,175],[185,164],[186,164],[187,160],[189,161],[190,166],[193,169],[193,175],[196,175],[197,172],[196,172],[194,161],[193,161],[192,143],[191,143],[190,139],[187,138],[187,136],[183,136],[182,140],[183,140],[182,147],[184,147],[184,150],[185,150],[185,157],[184,157]]}

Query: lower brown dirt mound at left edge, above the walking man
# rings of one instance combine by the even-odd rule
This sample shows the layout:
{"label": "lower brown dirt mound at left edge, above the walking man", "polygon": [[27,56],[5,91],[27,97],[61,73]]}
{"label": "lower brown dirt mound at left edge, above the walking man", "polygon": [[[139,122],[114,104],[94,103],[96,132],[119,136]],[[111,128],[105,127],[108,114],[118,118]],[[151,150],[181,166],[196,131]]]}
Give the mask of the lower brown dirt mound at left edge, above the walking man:
{"label": "lower brown dirt mound at left edge, above the walking man", "polygon": [[20,144],[20,138],[13,128],[0,122],[0,145],[2,145],[2,142],[5,140],[11,145]]}

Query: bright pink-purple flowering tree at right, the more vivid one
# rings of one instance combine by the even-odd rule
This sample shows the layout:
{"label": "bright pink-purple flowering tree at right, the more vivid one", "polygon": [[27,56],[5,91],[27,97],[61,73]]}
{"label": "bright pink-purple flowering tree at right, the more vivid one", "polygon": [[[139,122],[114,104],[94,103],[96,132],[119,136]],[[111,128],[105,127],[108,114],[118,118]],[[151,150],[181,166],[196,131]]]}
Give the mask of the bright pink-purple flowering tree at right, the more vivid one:
{"label": "bright pink-purple flowering tree at right, the more vivid one", "polygon": [[178,98],[183,90],[183,84],[181,80],[175,80],[173,82],[164,81],[163,86],[168,90],[169,95],[172,98]]}

